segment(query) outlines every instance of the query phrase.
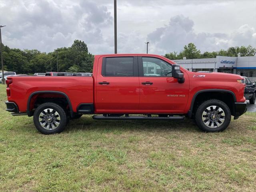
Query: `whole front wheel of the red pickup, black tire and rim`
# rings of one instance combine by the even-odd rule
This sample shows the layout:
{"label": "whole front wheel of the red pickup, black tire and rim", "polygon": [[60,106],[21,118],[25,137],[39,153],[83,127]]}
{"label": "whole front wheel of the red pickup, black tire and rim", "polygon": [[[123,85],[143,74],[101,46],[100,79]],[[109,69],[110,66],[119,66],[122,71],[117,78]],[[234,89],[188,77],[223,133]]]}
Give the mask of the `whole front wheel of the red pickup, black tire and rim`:
{"label": "whole front wheel of the red pickup, black tire and rim", "polygon": [[198,127],[206,132],[220,132],[230,124],[229,107],[217,99],[207,100],[200,104],[195,116]]}

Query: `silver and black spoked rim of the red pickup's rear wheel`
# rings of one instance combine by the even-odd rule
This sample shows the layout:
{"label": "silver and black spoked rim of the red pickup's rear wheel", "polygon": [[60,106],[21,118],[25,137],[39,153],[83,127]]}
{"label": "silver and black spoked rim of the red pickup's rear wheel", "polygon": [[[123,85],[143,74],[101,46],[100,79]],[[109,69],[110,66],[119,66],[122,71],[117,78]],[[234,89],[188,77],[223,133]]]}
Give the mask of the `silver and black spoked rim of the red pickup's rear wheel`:
{"label": "silver and black spoked rim of the red pickup's rear wheel", "polygon": [[54,109],[44,109],[39,115],[39,123],[46,130],[54,130],[60,125],[60,114]]}

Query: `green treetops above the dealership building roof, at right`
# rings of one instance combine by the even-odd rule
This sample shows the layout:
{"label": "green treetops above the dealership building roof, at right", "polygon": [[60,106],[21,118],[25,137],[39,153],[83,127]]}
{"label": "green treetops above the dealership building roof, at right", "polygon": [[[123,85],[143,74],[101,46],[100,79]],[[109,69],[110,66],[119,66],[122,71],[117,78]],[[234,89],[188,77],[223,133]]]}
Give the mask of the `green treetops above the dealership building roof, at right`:
{"label": "green treetops above the dealership building roof, at right", "polygon": [[201,53],[193,43],[189,43],[184,46],[184,49],[180,51],[180,53],[174,51],[167,53],[164,56],[170,60],[176,60],[182,59],[183,57],[186,57],[187,59],[216,58],[216,56],[237,57],[238,54],[240,54],[241,57],[254,56],[256,54],[256,48],[249,45],[247,47],[230,47],[227,50],[221,49],[220,51]]}

